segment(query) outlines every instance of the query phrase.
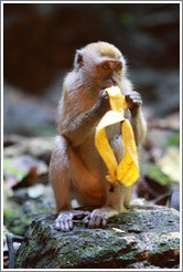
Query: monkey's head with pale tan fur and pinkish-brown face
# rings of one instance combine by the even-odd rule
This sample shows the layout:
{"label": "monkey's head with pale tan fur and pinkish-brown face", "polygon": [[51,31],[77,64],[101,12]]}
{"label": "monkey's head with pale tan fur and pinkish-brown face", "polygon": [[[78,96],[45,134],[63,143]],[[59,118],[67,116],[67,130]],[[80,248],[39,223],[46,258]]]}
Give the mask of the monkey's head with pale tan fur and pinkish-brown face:
{"label": "monkey's head with pale tan fur and pinkish-brown face", "polygon": [[76,51],[74,67],[86,87],[100,91],[119,84],[125,59],[115,45],[95,42]]}

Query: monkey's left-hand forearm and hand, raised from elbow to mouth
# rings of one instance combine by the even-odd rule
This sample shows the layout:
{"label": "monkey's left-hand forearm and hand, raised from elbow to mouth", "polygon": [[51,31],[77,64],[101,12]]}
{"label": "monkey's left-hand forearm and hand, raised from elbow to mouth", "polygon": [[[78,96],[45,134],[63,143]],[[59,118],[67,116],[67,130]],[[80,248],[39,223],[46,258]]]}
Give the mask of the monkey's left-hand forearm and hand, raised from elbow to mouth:
{"label": "monkey's left-hand forearm and hand, raised from elbow to mouth", "polygon": [[73,147],[79,146],[109,108],[108,95],[105,91],[100,91],[97,103],[87,112],[67,119],[64,119],[63,115],[60,125],[61,135],[68,139]]}

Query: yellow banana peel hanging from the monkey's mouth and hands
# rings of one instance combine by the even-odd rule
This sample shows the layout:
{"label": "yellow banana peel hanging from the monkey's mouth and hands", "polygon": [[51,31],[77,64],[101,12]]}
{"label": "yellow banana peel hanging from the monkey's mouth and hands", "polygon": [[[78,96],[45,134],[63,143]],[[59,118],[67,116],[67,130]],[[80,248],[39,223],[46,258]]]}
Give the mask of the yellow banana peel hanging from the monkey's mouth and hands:
{"label": "yellow banana peel hanging from the monkey's mouth and hands", "polygon": [[[123,111],[128,108],[128,103],[119,87],[114,86],[106,88],[105,91],[109,96],[111,109],[104,115],[96,127],[95,145],[108,168],[108,176],[106,176],[106,179],[111,184],[112,188],[117,186],[117,181],[128,187],[134,184],[139,177],[139,163],[133,130],[130,122],[123,116]],[[121,123],[121,135],[126,148],[125,157],[119,165],[108,143],[105,130],[107,126],[116,123]]]}

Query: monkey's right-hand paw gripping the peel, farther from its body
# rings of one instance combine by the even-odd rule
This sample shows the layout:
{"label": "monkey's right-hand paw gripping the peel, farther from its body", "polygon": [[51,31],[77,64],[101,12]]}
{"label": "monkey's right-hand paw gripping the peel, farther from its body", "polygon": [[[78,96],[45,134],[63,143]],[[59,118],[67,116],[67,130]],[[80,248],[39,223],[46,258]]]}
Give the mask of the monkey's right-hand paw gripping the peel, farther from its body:
{"label": "monkey's right-hand paw gripping the peel, farther from its body", "polygon": [[141,95],[138,92],[132,92],[126,95],[126,101],[129,103],[132,117],[136,116],[142,104]]}

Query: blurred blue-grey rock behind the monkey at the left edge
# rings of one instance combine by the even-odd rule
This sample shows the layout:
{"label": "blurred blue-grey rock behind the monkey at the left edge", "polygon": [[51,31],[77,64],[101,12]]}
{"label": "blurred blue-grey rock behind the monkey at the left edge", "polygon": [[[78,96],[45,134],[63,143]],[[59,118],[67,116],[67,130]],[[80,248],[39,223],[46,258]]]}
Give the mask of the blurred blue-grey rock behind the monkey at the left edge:
{"label": "blurred blue-grey rock behind the monkey at the left edge", "polygon": [[55,135],[56,108],[43,97],[25,95],[22,90],[4,84],[3,114],[4,134]]}

